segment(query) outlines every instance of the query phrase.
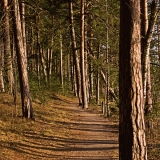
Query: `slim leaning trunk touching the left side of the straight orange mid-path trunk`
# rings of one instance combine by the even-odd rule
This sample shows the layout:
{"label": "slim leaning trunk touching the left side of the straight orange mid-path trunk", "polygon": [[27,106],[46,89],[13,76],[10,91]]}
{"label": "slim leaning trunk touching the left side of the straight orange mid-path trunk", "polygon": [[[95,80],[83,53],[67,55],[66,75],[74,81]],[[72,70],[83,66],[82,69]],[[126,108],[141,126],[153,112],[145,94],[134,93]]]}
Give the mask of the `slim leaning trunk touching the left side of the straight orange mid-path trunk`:
{"label": "slim leaning trunk touching the left side of the straight orange mid-path trunk", "polygon": [[69,11],[70,11],[70,30],[71,30],[71,40],[72,40],[72,51],[73,51],[73,62],[75,66],[75,76],[76,76],[76,83],[77,83],[77,94],[79,99],[79,105],[82,104],[82,90],[81,90],[81,73],[80,73],[80,66],[79,66],[79,58],[77,53],[77,45],[76,45],[76,36],[75,36],[75,29],[74,29],[74,18],[73,18],[73,7],[72,7],[72,0],[69,2]]}

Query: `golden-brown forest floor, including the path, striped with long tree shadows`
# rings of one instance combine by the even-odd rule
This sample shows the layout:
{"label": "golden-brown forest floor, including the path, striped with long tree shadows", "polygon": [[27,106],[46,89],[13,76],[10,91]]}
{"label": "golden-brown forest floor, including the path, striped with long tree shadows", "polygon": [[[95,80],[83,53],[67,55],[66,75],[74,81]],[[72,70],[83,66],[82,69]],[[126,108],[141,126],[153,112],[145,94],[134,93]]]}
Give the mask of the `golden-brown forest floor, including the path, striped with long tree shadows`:
{"label": "golden-brown forest floor, including the path, striped with long tree shadows", "polygon": [[[0,160],[119,159],[118,115],[104,118],[101,106],[82,109],[75,97],[47,97],[45,103],[33,100],[33,121],[21,117],[20,101],[15,105],[11,96],[0,94]],[[146,129],[149,160],[160,159],[156,126]]]}

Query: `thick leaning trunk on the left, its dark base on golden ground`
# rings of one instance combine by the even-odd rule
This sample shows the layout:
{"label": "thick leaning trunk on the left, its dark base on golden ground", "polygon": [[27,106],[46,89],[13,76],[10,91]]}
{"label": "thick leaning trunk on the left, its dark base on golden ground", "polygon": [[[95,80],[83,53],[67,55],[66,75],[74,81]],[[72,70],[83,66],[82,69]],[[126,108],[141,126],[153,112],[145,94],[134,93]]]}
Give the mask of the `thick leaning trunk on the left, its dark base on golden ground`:
{"label": "thick leaning trunk on the left, its dark base on golden ground", "polygon": [[33,119],[32,100],[30,96],[27,73],[27,57],[23,46],[23,35],[18,0],[13,0],[13,27],[20,80],[22,114],[25,118]]}

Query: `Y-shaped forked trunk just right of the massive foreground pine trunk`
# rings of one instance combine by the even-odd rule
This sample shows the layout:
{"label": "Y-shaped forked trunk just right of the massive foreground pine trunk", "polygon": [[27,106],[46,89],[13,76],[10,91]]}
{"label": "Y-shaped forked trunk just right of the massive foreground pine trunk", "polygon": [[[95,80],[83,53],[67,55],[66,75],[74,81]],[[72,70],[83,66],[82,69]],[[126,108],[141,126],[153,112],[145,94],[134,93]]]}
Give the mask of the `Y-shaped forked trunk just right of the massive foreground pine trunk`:
{"label": "Y-shaped forked trunk just right of the massive foreground pine trunk", "polygon": [[[142,3],[143,2],[143,3]],[[143,77],[143,92],[144,92],[144,105],[146,114],[152,112],[152,92],[151,92],[151,79],[150,79],[150,56],[149,49],[153,35],[154,25],[158,15],[158,1],[153,0],[151,3],[151,16],[149,25],[147,26],[147,1],[141,2],[142,10],[142,77]],[[144,16],[143,16],[144,15]],[[144,22],[143,22],[144,21]],[[145,26],[146,25],[146,26]],[[144,38],[143,38],[144,37]]]}

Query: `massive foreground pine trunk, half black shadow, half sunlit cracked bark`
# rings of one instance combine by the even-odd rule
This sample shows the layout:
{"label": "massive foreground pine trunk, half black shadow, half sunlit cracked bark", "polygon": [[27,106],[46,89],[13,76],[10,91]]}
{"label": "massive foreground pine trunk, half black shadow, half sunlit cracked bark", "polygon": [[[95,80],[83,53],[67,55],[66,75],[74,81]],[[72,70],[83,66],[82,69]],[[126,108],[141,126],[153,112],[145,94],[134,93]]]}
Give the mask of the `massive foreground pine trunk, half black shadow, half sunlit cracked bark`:
{"label": "massive foreground pine trunk, half black shadow, half sunlit cracked bark", "polygon": [[140,26],[140,0],[121,0],[119,40],[120,160],[147,160]]}

